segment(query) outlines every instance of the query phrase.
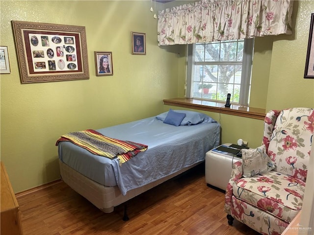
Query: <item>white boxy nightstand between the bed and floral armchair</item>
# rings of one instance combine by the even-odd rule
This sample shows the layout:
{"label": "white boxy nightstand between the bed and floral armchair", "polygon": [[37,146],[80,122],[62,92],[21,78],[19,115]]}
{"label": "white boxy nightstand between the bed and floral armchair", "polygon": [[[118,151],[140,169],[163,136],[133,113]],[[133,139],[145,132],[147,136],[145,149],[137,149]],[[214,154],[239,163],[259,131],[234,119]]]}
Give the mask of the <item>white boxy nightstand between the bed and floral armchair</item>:
{"label": "white boxy nightstand between the bed and floral armchair", "polygon": [[[230,146],[231,143],[222,145]],[[232,164],[241,161],[241,158],[226,155],[209,150],[205,156],[205,180],[206,183],[226,190],[232,172]]]}

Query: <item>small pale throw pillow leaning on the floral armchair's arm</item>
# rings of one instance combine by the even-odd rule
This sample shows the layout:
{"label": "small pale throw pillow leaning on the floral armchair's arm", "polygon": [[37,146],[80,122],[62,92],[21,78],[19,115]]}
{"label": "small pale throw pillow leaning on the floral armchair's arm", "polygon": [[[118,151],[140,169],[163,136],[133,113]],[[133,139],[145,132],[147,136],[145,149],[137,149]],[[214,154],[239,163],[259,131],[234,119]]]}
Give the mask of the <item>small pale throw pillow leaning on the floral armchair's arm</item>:
{"label": "small pale throw pillow leaning on the floral armchair's arm", "polygon": [[266,147],[262,145],[255,149],[242,149],[243,177],[252,177],[266,173],[275,168],[275,164],[266,154]]}

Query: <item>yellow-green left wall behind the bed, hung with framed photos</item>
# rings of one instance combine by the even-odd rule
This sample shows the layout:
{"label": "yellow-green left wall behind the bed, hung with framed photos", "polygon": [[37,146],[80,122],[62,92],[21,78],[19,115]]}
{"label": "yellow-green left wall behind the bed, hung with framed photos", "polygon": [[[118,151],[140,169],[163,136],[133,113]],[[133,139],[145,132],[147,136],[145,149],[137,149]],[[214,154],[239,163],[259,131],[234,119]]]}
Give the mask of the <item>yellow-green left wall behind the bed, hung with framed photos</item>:
{"label": "yellow-green left wall behind the bed, hung with framed photos", "polygon": [[[163,4],[157,3],[157,7]],[[0,1],[1,161],[19,192],[59,179],[55,141],[163,112],[177,96],[178,51],[157,46],[150,1]],[[85,26],[89,80],[21,84],[11,21]],[[146,33],[146,55],[131,54],[131,31]],[[95,75],[94,51],[112,51],[113,76]]]}

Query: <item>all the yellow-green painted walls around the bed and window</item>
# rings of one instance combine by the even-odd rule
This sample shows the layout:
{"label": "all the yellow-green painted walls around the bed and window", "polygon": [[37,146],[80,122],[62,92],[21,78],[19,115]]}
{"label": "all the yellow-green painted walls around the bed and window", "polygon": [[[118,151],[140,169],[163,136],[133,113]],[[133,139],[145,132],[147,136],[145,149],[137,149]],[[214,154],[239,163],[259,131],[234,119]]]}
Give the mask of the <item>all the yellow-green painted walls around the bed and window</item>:
{"label": "all the yellow-green painted walls around the bed and window", "polygon": [[[0,77],[0,157],[15,192],[59,179],[60,135],[151,117],[169,109],[162,99],[184,96],[185,46],[157,46],[150,7],[142,0],[0,0],[0,44],[11,65]],[[314,107],[314,79],[303,78],[312,12],[314,1],[294,1],[294,33],[256,40],[253,107]],[[85,26],[90,79],[21,84],[12,20]],[[131,55],[131,31],[146,33],[146,55]],[[96,77],[94,51],[112,51],[113,76]],[[220,120],[222,142],[261,144],[262,120],[208,114]]]}

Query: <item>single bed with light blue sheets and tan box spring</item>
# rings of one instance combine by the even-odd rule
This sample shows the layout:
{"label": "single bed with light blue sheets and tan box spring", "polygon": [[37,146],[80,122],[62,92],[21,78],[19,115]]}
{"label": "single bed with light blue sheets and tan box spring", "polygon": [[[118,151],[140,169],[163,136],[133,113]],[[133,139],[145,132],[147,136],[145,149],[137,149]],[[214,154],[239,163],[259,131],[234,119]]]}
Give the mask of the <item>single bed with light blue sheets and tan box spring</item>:
{"label": "single bed with light blue sheets and tan box spring", "polygon": [[[185,116],[178,122],[170,114]],[[57,142],[62,180],[106,213],[201,164],[206,152],[220,142],[219,123],[205,114],[185,110],[169,110],[96,131],[106,137],[148,146],[146,151],[121,164],[118,158],[93,154],[71,141]]]}

